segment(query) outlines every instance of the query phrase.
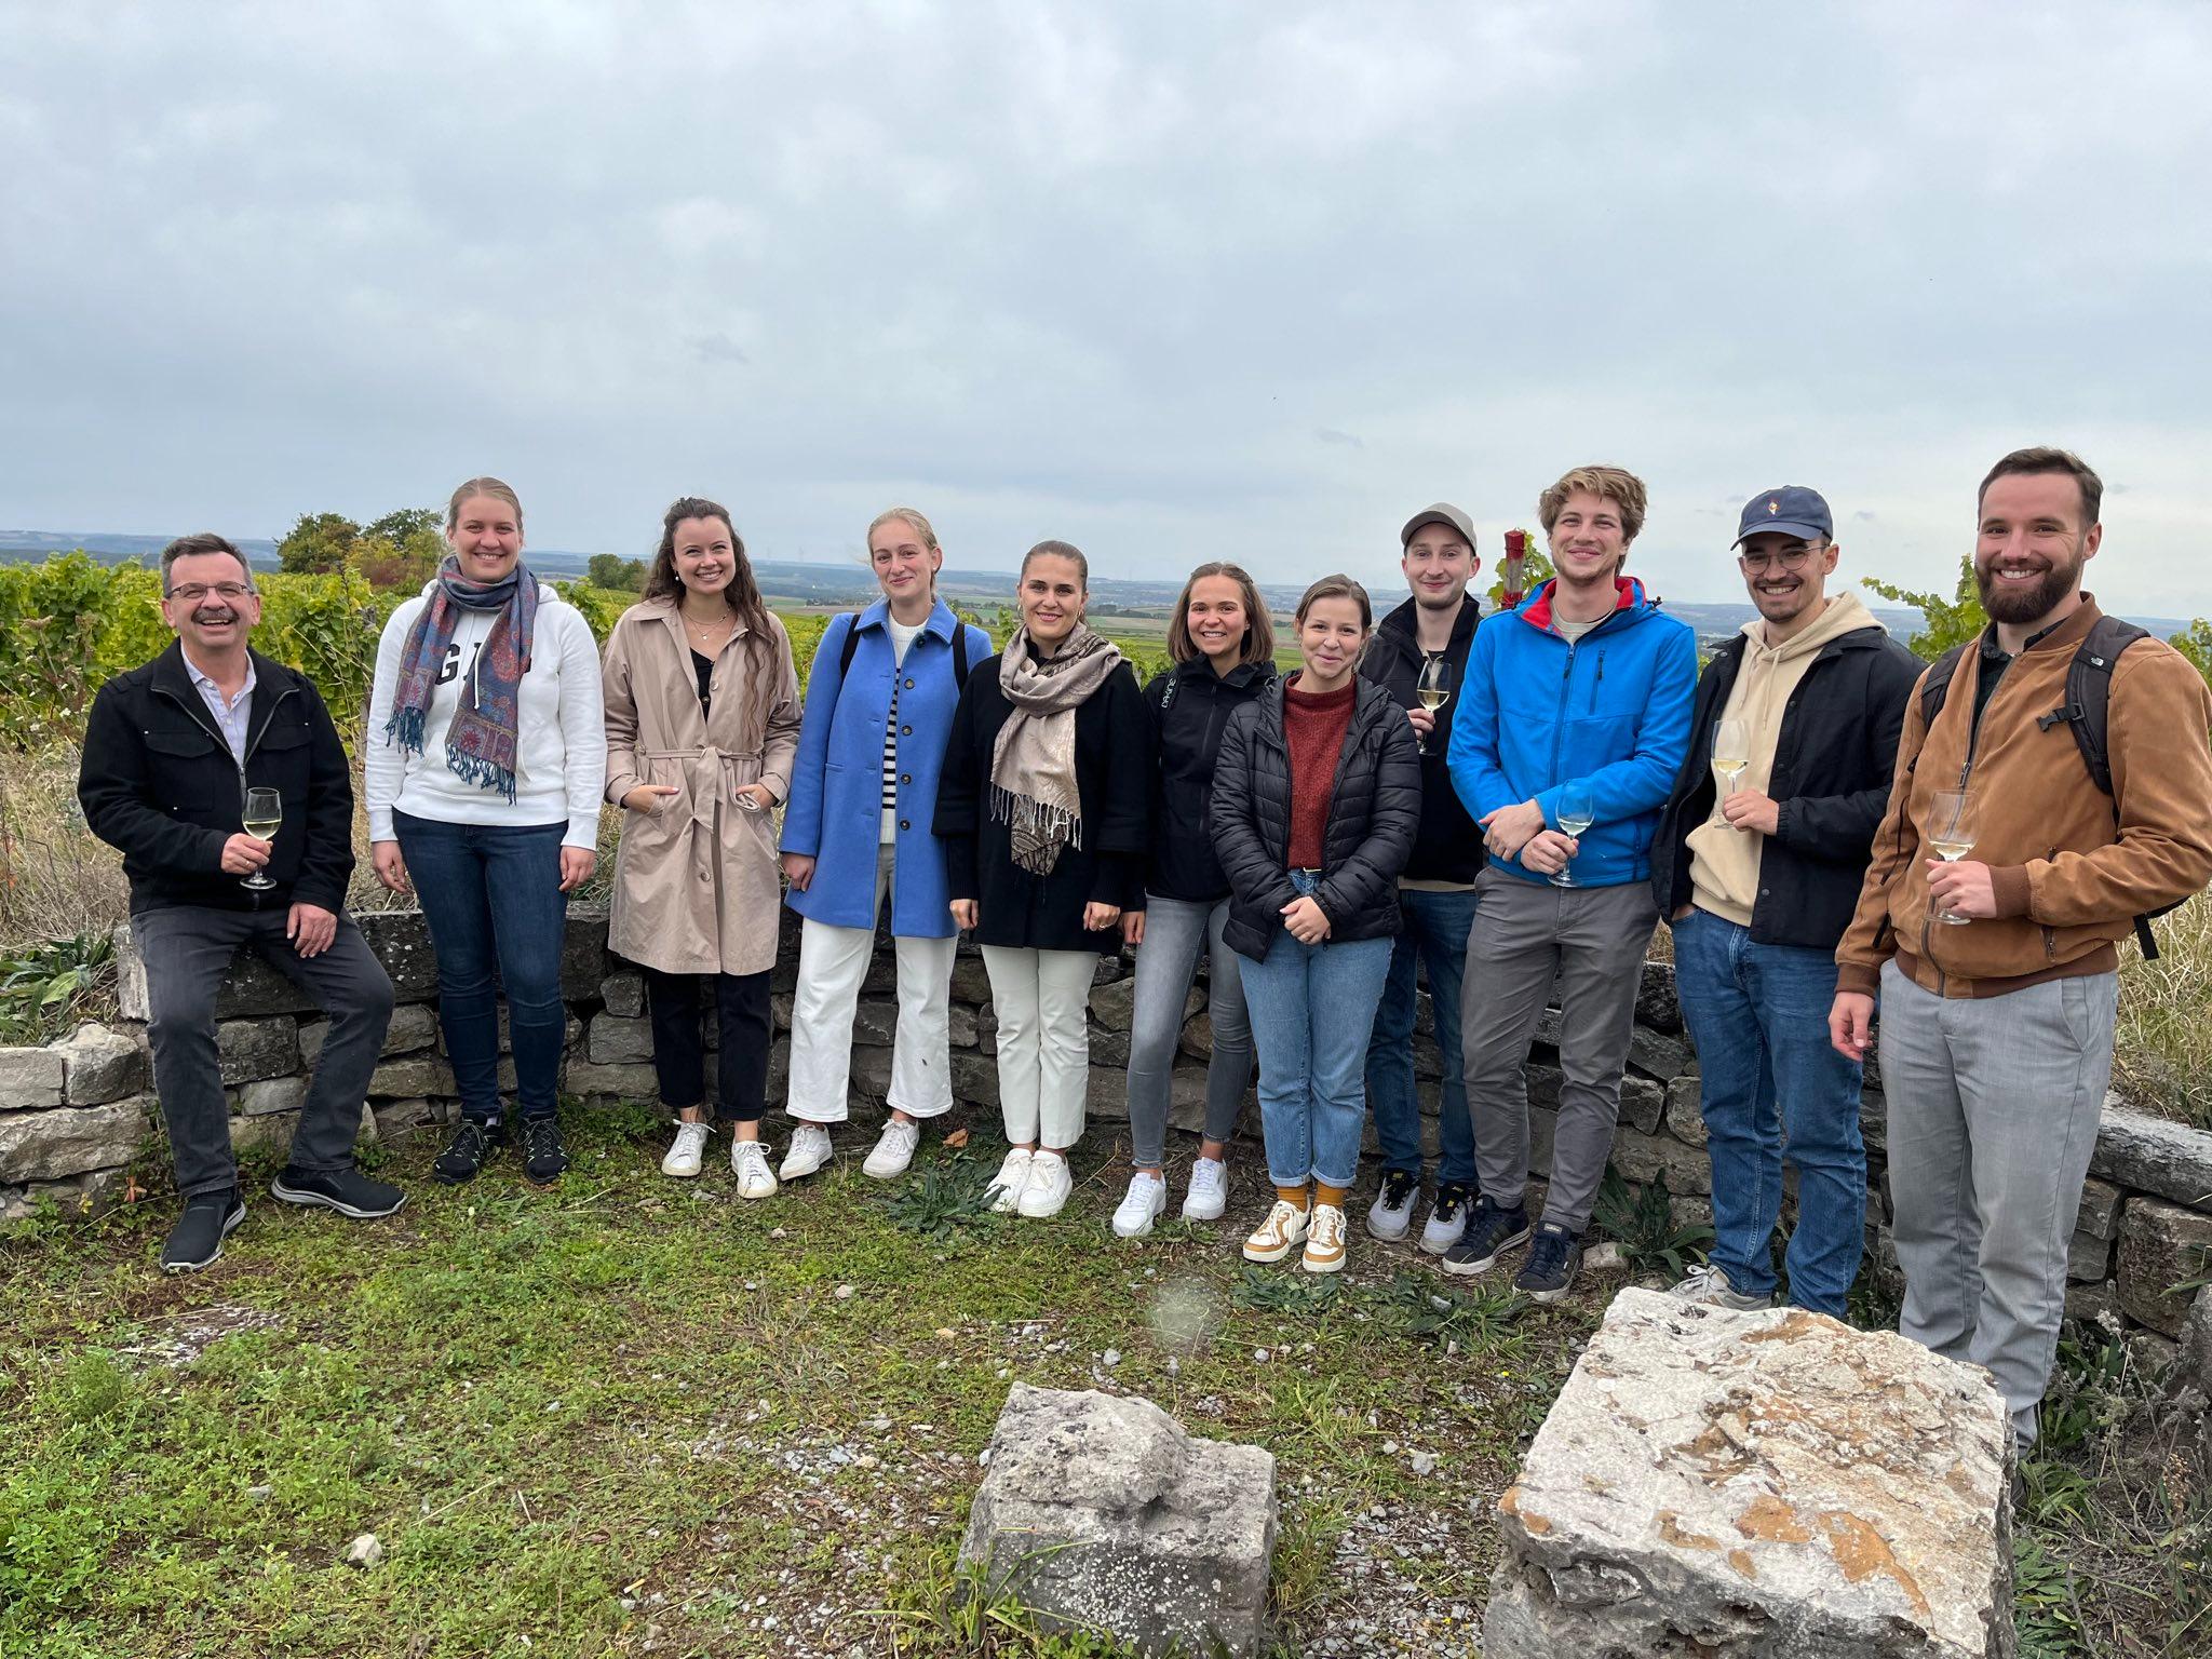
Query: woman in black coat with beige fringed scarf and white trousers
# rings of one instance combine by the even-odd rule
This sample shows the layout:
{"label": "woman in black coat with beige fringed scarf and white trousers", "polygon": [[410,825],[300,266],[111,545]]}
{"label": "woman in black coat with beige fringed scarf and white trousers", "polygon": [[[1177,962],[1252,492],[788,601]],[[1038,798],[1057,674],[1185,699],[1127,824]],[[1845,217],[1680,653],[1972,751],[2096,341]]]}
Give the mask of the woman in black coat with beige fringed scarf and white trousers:
{"label": "woman in black coat with beige fringed scarf and white trousers", "polygon": [[953,920],[982,945],[1011,1150],[995,1208],[1051,1217],[1084,1133],[1091,980],[1144,907],[1150,739],[1119,648],[1084,626],[1091,566],[1066,542],[1022,560],[1022,626],[975,666],[945,750],[936,832]]}

